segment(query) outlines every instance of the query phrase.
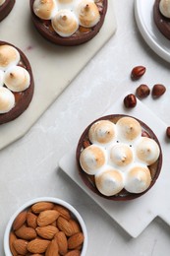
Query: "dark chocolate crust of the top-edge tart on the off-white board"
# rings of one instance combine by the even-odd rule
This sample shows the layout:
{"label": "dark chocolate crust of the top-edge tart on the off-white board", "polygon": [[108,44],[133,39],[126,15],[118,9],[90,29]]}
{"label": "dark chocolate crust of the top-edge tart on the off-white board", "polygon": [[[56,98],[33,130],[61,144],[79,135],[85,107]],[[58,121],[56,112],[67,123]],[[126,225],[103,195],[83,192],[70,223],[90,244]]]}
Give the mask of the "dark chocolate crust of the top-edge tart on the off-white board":
{"label": "dark chocolate crust of the top-edge tart on the off-white board", "polygon": [[64,45],[64,46],[75,46],[79,45],[82,43],[85,43],[86,41],[90,40],[93,38],[97,32],[100,31],[103,23],[104,23],[104,18],[107,12],[107,0],[103,0],[103,10],[100,13],[100,21],[93,27],[91,28],[90,32],[75,32],[73,35],[69,37],[62,37],[58,35],[56,32],[50,30],[45,26],[45,21],[39,19],[33,12],[33,2],[34,0],[29,0],[29,6],[30,6],[30,12],[31,12],[31,18],[34,27],[36,30],[44,36],[46,39],[49,41],[59,44],[59,45]]}

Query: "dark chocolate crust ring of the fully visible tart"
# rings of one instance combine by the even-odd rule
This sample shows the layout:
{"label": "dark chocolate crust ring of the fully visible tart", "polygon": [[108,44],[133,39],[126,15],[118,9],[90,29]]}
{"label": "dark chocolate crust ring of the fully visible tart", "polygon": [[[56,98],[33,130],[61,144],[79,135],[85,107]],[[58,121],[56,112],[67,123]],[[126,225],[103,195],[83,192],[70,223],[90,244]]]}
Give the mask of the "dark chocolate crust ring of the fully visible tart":
{"label": "dark chocolate crust ring of the fully visible tart", "polygon": [[89,141],[88,140],[88,130],[89,130],[90,126],[93,123],[95,123],[96,121],[99,121],[99,120],[110,120],[113,123],[116,123],[120,118],[122,118],[124,116],[133,117],[133,116],[124,115],[124,114],[113,114],[113,115],[106,115],[106,116],[103,116],[103,117],[100,117],[100,118],[94,120],[92,123],[90,123],[85,128],[85,131],[84,131],[84,133],[82,134],[82,136],[81,136],[81,138],[79,140],[79,143],[78,143],[78,146],[77,146],[77,150],[76,150],[76,160],[77,160],[77,165],[78,165],[78,171],[79,171],[79,174],[80,174],[81,178],[83,179],[86,187],[88,189],[90,189],[91,191],[93,191],[98,196],[103,197],[103,198],[108,199],[108,200],[112,200],[112,201],[128,201],[128,200],[132,200],[132,199],[141,197],[143,194],[145,194],[154,185],[154,183],[156,182],[156,179],[158,178],[158,176],[160,174],[160,170],[161,170],[161,166],[162,166],[162,151],[161,151],[161,147],[160,147],[160,144],[159,144],[159,141],[158,141],[156,135],[141,120],[139,120],[138,118],[133,117],[137,121],[139,121],[140,124],[142,125],[142,133],[146,133],[147,137],[155,140],[155,142],[158,144],[159,149],[160,149],[159,159],[155,163],[153,163],[152,165],[150,165],[148,167],[149,170],[150,170],[151,178],[152,178],[151,183],[150,183],[149,187],[145,191],[143,191],[142,193],[138,193],[138,194],[130,193],[130,192],[126,191],[125,189],[123,189],[121,192],[119,192],[118,194],[116,194],[114,196],[105,196],[105,195],[102,195],[98,191],[98,189],[96,188],[95,183],[94,183],[93,175],[88,175],[87,173],[85,173],[85,171],[82,169],[81,164],[80,164],[80,156],[81,156],[81,152],[82,152],[82,150],[84,148],[84,142],[85,141]]}

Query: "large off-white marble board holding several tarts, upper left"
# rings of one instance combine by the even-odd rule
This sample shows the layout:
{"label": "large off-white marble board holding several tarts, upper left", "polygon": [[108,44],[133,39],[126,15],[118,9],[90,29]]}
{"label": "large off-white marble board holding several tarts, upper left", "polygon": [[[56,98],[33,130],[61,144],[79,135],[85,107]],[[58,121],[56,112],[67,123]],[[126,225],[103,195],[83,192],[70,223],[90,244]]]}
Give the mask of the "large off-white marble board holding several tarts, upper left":
{"label": "large off-white marble board holding several tarts, upper left", "polygon": [[21,138],[47,107],[70,85],[85,64],[116,32],[113,1],[100,32],[87,43],[62,47],[44,39],[35,31],[29,1],[16,0],[10,15],[0,23],[0,40],[13,43],[28,56],[35,82],[28,109],[16,120],[0,126],[0,150]]}

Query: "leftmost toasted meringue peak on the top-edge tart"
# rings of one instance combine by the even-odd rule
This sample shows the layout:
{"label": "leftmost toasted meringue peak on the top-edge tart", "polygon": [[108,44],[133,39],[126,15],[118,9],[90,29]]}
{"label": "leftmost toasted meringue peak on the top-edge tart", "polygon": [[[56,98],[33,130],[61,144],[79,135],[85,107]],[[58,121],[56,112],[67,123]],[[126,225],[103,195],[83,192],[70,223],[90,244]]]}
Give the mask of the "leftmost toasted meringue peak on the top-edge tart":
{"label": "leftmost toasted meringue peak on the top-edge tart", "polygon": [[55,12],[55,0],[35,0],[33,3],[34,14],[43,20],[50,20]]}

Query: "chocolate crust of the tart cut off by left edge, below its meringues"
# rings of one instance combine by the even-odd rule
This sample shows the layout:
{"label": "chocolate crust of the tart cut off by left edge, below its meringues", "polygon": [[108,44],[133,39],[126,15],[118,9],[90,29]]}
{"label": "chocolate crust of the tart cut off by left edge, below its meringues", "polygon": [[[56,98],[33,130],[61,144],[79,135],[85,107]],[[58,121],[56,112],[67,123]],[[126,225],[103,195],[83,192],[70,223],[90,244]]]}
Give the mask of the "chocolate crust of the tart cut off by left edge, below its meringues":
{"label": "chocolate crust of the tart cut off by left edge, below its meringues", "polygon": [[[12,92],[15,96],[16,104],[9,112],[0,114],[0,124],[10,122],[16,119],[18,116],[20,116],[28,108],[28,105],[31,101],[31,98],[33,96],[33,91],[34,91],[33,75],[32,75],[30,64],[28,62],[28,58],[26,57],[24,52],[18,47],[16,47],[15,45],[6,41],[0,41],[0,45],[4,45],[4,44],[11,45],[19,51],[21,56],[21,61],[23,63],[22,66],[28,70],[28,73],[30,76],[30,85],[28,89],[23,92],[19,92],[19,93]],[[20,63],[18,64],[18,66],[20,66]]]}

